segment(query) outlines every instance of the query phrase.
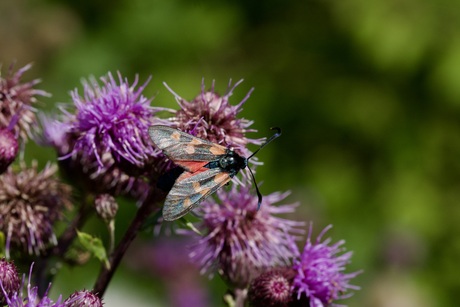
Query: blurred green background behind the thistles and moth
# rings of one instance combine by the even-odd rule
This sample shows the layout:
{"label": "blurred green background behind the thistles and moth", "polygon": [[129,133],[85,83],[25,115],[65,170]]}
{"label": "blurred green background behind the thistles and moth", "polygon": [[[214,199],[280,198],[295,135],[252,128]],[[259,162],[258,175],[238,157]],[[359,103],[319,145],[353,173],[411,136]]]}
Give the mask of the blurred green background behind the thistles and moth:
{"label": "blurred green background behind the thistles and moth", "polygon": [[[4,0],[3,70],[14,61],[34,63],[25,79],[53,94],[41,98],[46,112],[108,71],[152,75],[146,95],[173,108],[162,82],[191,99],[202,78],[220,92],[244,78],[232,99],[255,87],[241,114],[255,121],[251,137],[283,128],[259,154],[262,191],[291,190],[295,218],[317,232],[333,224],[330,236],[354,251],[350,271],[364,269],[345,303],[458,304],[460,2]],[[32,142],[25,157],[56,158]],[[135,210],[122,207],[120,232]],[[87,227],[105,236],[100,222]],[[106,306],[179,306],[187,295],[221,304],[225,286],[184,264],[182,242],[142,237]],[[91,288],[97,270],[63,267],[52,294]]]}

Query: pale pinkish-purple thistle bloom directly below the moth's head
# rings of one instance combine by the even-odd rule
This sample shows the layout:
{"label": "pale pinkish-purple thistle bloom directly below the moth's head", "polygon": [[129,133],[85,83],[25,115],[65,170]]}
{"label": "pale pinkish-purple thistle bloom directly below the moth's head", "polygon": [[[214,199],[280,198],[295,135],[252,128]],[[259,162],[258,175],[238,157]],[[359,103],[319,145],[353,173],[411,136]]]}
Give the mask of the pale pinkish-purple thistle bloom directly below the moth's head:
{"label": "pale pinkish-purple thistle bloom directly below the moth's head", "polygon": [[297,204],[274,206],[289,193],[272,193],[263,198],[257,210],[257,197],[244,186],[217,192],[219,202],[205,200],[198,229],[205,235],[196,243],[190,257],[202,266],[202,273],[217,269],[238,287],[269,267],[289,264],[298,255],[294,240],[303,233],[302,222],[275,216],[292,213]]}

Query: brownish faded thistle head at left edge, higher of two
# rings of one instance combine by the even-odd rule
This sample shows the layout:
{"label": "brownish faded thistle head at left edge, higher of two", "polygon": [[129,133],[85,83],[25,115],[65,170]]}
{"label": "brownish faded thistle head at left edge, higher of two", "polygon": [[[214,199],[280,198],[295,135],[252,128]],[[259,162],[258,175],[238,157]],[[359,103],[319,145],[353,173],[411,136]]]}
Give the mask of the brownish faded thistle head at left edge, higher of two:
{"label": "brownish faded thistle head at left edge, higher of two", "polygon": [[34,88],[40,83],[39,79],[21,82],[22,75],[31,67],[29,64],[13,72],[11,65],[5,77],[0,75],[0,127],[9,127],[14,123],[10,127],[11,131],[20,135],[24,141],[31,135],[37,121],[33,107],[37,102],[36,96],[50,96],[47,92]]}

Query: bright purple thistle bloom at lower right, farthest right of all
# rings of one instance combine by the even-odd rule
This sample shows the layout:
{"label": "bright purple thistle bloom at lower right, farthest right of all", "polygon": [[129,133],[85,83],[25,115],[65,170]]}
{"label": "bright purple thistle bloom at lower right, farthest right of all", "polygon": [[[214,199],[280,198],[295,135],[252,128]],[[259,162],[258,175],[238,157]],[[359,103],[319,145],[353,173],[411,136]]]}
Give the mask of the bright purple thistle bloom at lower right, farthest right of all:
{"label": "bright purple thistle bloom at lower right, farthest right of all", "polygon": [[328,238],[321,242],[323,235],[331,228],[329,225],[317,237],[316,242],[311,242],[312,226],[308,232],[305,248],[300,260],[294,263],[293,268],[297,271],[294,278],[294,290],[297,299],[305,297],[310,302],[310,307],[339,306],[332,302],[345,299],[351,296],[346,293],[348,290],[359,290],[360,288],[350,285],[350,279],[361,272],[345,274],[345,266],[350,262],[352,252],[344,252],[341,247],[345,241],[341,240],[330,245]]}

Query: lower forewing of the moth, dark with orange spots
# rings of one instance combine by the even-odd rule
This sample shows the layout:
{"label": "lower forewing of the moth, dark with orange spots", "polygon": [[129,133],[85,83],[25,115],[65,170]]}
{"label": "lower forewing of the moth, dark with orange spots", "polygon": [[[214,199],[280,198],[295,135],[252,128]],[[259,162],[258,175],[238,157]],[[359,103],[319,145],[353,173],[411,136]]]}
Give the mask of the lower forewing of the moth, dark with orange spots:
{"label": "lower forewing of the moth, dark with orange spots", "polygon": [[230,175],[218,168],[203,168],[198,174],[183,173],[177,178],[163,207],[165,221],[176,220],[230,181]]}

